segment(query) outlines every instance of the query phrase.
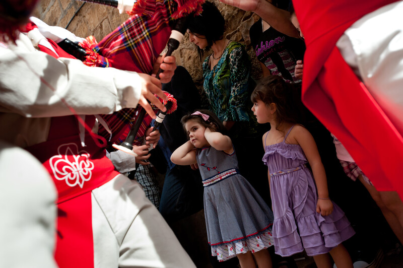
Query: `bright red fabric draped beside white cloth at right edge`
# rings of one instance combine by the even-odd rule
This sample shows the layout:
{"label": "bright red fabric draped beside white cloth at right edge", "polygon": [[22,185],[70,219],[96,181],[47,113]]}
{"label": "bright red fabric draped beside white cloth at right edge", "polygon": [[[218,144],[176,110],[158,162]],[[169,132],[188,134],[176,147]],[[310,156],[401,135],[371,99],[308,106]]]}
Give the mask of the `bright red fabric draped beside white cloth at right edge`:
{"label": "bright red fabric draped beside white cloth at right edge", "polygon": [[403,197],[403,138],[335,43],[355,21],[395,0],[293,0],[305,35],[302,101],[343,143],[378,190]]}

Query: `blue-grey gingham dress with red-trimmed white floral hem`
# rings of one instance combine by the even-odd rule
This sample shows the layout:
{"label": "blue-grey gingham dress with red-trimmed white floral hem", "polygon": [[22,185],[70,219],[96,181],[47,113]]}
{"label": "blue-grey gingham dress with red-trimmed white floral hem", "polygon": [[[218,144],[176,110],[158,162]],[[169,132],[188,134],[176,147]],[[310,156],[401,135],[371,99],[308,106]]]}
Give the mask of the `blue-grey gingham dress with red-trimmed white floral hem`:
{"label": "blue-grey gingham dress with red-trimmed white floral hem", "polygon": [[272,246],[273,212],[238,173],[235,152],[228,155],[207,147],[198,149],[196,158],[205,186],[205,218],[212,255],[224,261]]}

